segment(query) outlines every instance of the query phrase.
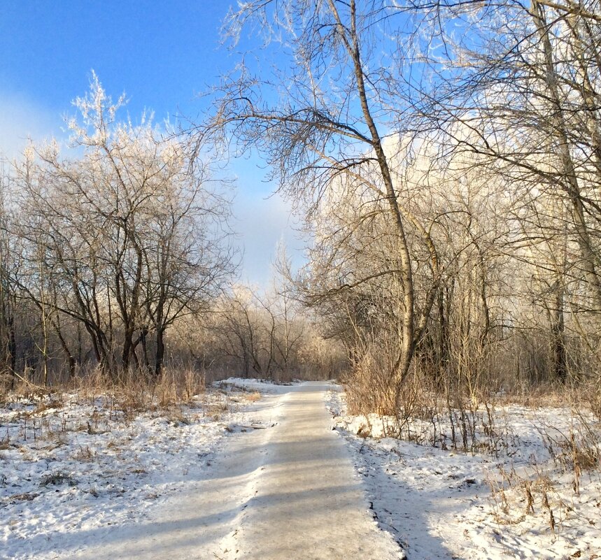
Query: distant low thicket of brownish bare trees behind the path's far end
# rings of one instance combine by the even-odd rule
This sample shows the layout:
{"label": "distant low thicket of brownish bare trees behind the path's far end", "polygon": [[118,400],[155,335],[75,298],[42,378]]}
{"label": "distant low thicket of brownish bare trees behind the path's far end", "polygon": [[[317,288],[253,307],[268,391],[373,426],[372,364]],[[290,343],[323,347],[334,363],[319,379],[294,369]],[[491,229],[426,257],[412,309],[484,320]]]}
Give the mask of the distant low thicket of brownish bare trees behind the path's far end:
{"label": "distant low thicket of brownish bare trees behind the path's far end", "polygon": [[344,347],[323,335],[321,318],[291,301],[286,289],[234,284],[207,313],[178,322],[169,338],[175,359],[208,379],[236,375],[286,382],[346,373]]}

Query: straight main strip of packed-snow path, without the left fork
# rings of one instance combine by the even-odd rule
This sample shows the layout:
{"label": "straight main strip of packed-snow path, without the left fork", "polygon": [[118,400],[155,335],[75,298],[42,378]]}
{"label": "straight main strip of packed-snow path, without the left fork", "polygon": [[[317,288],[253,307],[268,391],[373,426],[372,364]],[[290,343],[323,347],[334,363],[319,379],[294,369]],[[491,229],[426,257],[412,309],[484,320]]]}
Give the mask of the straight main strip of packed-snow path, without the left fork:
{"label": "straight main strip of packed-snow path, without the left fork", "polygon": [[369,515],[344,441],[332,431],[324,406],[329,386],[306,383],[283,397],[281,420],[257,441],[260,451],[236,534],[238,557],[256,560],[402,557]]}

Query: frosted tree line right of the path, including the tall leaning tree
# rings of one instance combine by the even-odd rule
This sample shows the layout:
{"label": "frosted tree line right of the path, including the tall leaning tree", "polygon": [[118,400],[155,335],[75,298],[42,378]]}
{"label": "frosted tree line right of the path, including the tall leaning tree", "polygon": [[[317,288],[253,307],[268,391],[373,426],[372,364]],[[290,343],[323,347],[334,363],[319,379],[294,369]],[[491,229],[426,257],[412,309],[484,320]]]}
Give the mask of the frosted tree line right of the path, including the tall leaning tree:
{"label": "frosted tree line right of the path, including the tall leaning tree", "polygon": [[[299,298],[372,410],[599,380],[597,0],[248,2],[233,45],[277,57],[218,89],[311,238]],[[285,62],[284,62],[285,61]],[[285,71],[279,69],[285,68]]]}

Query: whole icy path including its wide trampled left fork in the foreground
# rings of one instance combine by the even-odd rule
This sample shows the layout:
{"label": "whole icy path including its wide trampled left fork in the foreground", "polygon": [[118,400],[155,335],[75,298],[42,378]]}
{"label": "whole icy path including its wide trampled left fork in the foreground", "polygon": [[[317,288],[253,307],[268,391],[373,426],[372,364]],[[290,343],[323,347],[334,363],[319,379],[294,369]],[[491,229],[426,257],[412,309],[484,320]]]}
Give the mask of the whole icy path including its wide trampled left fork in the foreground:
{"label": "whole icy path including its wide trampled left fork in the foreground", "polygon": [[[265,396],[203,480],[145,522],[83,536],[86,560],[397,560],[325,409],[331,385]],[[65,551],[66,552],[66,551]]]}

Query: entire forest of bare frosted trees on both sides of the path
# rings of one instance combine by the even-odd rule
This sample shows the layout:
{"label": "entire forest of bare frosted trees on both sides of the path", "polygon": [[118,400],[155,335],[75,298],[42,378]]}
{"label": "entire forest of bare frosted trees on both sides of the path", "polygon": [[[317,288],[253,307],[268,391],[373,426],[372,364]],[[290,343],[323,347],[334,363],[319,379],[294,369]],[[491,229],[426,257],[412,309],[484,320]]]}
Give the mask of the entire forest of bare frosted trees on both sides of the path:
{"label": "entire forest of bare frosted trees on both sides of the path", "polygon": [[[416,386],[585,387],[600,406],[601,16],[596,0],[249,2],[201,121],[125,118],[99,78],[68,146],[0,190],[3,384],[344,376],[394,412]],[[285,70],[284,70],[285,69]],[[256,150],[302,219],[268,288],[241,285],[224,152]],[[590,389],[590,390],[589,390]]]}

